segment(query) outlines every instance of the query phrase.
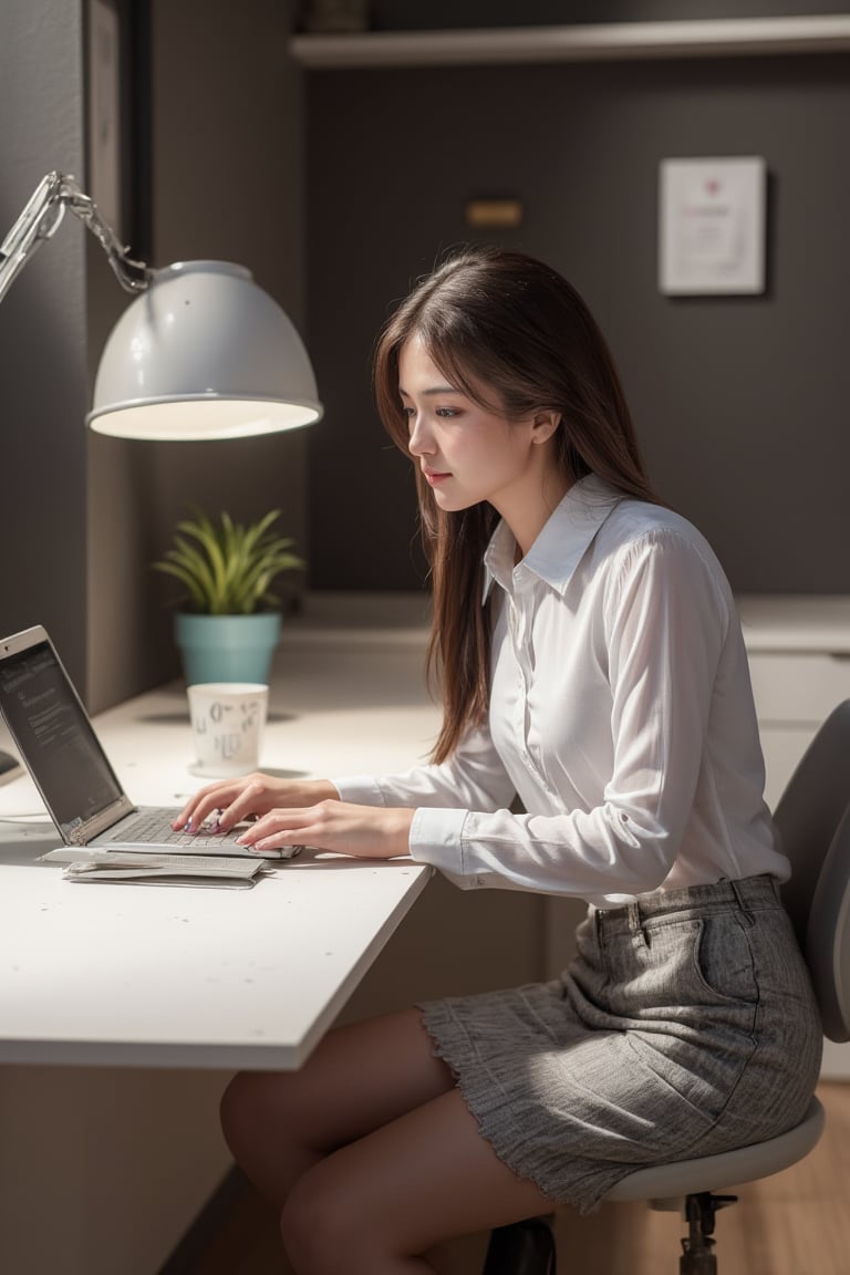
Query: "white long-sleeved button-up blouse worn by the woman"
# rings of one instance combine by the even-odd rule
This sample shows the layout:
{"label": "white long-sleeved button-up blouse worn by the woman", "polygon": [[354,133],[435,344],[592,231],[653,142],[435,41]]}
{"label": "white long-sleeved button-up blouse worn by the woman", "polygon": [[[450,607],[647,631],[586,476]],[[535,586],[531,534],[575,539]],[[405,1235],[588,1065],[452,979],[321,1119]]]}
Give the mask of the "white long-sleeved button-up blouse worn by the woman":
{"label": "white long-sleeved button-up blouse worn by the woman", "polygon": [[[410,854],[456,885],[616,907],[659,889],[788,878],[763,801],[747,653],[703,537],[596,477],[529,553],[501,523],[488,728],[442,765],[334,780],[415,807]],[[525,813],[508,807],[519,797]]]}

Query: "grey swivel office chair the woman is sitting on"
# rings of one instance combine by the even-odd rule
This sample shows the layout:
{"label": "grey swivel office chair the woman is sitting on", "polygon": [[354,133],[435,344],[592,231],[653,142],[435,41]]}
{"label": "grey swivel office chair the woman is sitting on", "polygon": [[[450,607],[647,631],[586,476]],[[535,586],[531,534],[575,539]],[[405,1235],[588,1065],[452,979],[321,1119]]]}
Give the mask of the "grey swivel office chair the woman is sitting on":
{"label": "grey swivel office chair the woman is sitting on", "polygon": [[[781,845],[791,861],[782,901],[812,974],[823,1033],[850,1040],[850,700],[817,732],[776,807]],[[790,1168],[814,1148],[823,1108],[812,1099],[802,1122],[766,1142],[721,1155],[655,1164],[630,1173],[605,1200],[646,1200],[654,1209],[682,1209],[679,1275],[715,1275],[715,1214],[734,1204],[731,1186]],[[549,1219],[533,1218],[493,1230],[483,1275],[554,1275]]]}

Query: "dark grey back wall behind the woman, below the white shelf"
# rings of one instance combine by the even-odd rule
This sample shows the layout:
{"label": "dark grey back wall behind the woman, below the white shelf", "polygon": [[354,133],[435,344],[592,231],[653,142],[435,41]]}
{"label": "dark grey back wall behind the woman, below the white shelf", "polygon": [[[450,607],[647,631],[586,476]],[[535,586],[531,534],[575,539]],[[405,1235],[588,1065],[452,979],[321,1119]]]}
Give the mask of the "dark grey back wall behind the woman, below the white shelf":
{"label": "dark grey back wall behind the woman, below the white shelf", "polygon": [[[455,24],[474,10],[457,5]],[[501,241],[582,291],[656,486],[733,585],[847,590],[847,55],[316,70],[307,83],[307,321],[328,404],[310,440],[313,586],[422,579],[409,467],[371,403],[371,346],[441,250],[482,237],[466,199],[510,194],[525,217]],[[766,295],[660,296],[659,161],[735,154],[770,172]]]}

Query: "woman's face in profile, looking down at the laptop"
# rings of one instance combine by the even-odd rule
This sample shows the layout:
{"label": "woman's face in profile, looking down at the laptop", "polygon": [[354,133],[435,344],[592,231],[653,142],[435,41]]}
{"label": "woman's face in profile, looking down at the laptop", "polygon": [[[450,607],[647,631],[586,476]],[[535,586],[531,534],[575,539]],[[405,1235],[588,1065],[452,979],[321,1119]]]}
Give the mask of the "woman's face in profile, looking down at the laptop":
{"label": "woman's face in profile, looking down at the laptop", "polygon": [[482,408],[447,381],[418,337],[399,352],[399,394],[409,422],[408,450],[440,509],[457,511],[486,500],[512,523],[529,499],[539,500],[548,449],[538,444],[557,421],[530,416],[508,422]]}

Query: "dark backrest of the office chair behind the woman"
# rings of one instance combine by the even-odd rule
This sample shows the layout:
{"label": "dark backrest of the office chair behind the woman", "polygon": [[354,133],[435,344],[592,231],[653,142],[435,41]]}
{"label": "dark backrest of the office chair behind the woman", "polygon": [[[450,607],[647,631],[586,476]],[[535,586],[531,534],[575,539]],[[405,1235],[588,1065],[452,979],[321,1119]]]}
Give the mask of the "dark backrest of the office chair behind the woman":
{"label": "dark backrest of the office chair behind the woman", "polygon": [[817,732],[775,811],[782,886],[831,1040],[850,1040],[850,700]]}

